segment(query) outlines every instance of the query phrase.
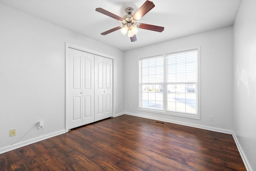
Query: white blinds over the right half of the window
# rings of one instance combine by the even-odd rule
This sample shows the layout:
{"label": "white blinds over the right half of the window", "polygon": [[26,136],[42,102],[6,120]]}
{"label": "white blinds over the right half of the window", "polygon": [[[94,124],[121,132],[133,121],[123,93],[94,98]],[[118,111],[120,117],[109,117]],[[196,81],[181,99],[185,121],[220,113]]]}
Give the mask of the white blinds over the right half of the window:
{"label": "white blinds over the right half of the window", "polygon": [[166,55],[166,110],[197,113],[197,50]]}

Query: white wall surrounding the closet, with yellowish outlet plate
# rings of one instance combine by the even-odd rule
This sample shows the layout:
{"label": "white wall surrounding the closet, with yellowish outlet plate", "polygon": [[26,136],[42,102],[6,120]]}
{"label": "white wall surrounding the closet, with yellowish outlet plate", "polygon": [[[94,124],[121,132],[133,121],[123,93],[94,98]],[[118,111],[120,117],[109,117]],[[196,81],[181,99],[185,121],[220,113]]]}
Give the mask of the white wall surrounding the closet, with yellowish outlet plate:
{"label": "white wall surrounding the closet, with yellowish outlet plate", "polygon": [[0,23],[0,153],[63,133],[66,42],[114,57],[114,111],[123,112],[124,52],[2,4]]}

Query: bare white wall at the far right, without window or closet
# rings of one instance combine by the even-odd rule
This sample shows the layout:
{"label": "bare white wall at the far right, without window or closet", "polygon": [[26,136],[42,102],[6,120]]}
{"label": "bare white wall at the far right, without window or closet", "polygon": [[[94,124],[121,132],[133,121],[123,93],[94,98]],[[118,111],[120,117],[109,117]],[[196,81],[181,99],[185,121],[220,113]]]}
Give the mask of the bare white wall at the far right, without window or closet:
{"label": "bare white wall at the far right, without window or closet", "polygon": [[234,23],[233,131],[256,170],[256,1],[242,0]]}

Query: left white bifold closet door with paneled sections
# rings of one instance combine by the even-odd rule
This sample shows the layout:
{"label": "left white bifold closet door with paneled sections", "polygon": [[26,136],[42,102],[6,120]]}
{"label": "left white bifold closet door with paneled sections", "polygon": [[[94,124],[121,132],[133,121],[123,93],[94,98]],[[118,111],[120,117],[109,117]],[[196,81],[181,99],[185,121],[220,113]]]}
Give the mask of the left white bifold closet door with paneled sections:
{"label": "left white bifold closet door with paneled sections", "polygon": [[68,48],[68,129],[94,122],[94,54]]}

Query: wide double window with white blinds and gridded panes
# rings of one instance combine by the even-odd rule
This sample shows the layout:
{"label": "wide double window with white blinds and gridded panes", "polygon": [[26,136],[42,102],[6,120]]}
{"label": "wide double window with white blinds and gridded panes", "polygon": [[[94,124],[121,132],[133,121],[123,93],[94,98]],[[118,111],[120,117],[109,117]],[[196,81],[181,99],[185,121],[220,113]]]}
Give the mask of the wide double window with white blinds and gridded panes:
{"label": "wide double window with white blinds and gridded panes", "polygon": [[198,50],[139,59],[139,109],[200,119]]}

